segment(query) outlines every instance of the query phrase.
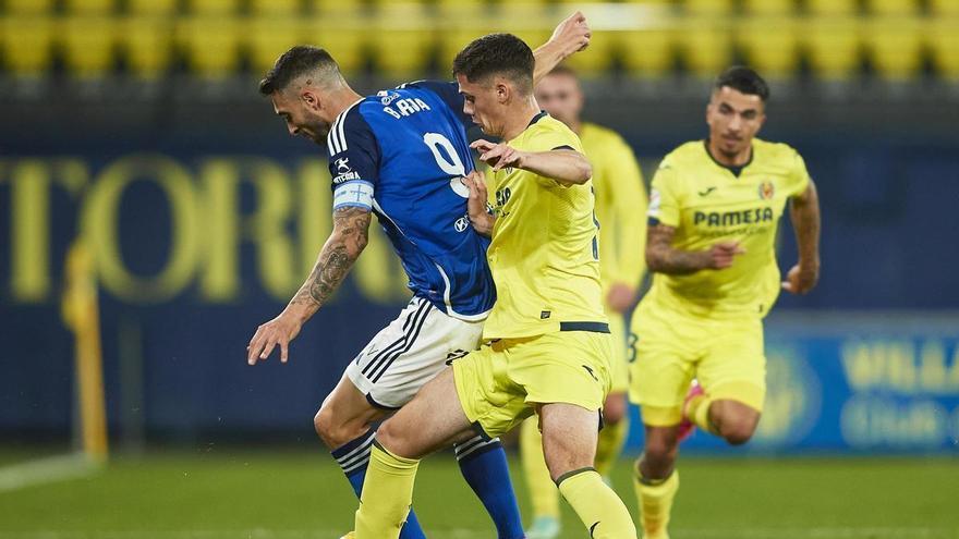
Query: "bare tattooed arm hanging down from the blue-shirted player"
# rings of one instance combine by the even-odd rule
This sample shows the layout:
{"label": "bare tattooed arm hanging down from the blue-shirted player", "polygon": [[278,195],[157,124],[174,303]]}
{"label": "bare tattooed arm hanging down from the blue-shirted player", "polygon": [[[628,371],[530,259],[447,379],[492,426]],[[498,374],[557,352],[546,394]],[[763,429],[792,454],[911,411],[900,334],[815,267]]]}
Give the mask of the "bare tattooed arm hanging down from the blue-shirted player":
{"label": "bare tattooed arm hanging down from the blue-shirted player", "polygon": [[333,231],[324,244],[313,271],[287,308],[256,329],[246,346],[246,363],[255,365],[280,345],[280,360],[287,363],[290,341],[336,292],[369,238],[369,210],[347,207],[333,211]]}

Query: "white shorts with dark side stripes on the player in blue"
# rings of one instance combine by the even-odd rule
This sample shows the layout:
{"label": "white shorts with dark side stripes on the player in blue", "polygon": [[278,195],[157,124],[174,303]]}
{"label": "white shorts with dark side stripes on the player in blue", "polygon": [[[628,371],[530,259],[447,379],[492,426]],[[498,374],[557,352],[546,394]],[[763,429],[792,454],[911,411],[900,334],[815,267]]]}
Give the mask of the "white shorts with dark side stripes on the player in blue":
{"label": "white shorts with dark side stripes on the player in blue", "polygon": [[397,409],[451,357],[475,350],[482,332],[482,322],[452,318],[414,297],[350,363],[347,375],[371,404]]}

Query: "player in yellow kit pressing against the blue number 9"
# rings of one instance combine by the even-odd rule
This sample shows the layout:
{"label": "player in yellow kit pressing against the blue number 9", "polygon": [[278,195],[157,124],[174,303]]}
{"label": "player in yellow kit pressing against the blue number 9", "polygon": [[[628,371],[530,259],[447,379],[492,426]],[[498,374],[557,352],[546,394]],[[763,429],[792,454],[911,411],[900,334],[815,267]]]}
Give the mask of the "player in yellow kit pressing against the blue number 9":
{"label": "player in yellow kit pressing against the blue number 9", "polygon": [[453,73],[464,112],[505,140],[473,144],[493,167],[495,217],[486,212],[482,174],[465,180],[470,221],[493,238],[497,299],[486,344],[452,362],[380,427],[355,538],[397,537],[420,458],[476,432],[502,434],[535,413],[549,473],[591,537],[633,539],[629,511],[593,468],[612,346],[590,162],[576,135],[539,111],[533,53],[515,36],[473,41]]}

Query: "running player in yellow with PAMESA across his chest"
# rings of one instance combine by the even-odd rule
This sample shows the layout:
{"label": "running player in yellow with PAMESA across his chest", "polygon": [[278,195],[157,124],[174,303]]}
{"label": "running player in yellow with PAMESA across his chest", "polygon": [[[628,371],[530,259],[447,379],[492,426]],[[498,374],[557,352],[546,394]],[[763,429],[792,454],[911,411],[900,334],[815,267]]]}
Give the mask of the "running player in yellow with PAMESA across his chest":
{"label": "running player in yellow with PAMESA across his chest", "polygon": [[[683,422],[735,445],[752,437],[766,391],[763,317],[780,287],[804,294],[818,279],[815,185],[794,149],[754,138],[768,95],[754,71],[727,70],[706,108],[709,138],[673,150],[653,179],[654,278],[633,315],[630,387],[646,434],[635,480],[645,539],[668,537]],[[780,283],[775,241],[787,201],[799,264]]]}

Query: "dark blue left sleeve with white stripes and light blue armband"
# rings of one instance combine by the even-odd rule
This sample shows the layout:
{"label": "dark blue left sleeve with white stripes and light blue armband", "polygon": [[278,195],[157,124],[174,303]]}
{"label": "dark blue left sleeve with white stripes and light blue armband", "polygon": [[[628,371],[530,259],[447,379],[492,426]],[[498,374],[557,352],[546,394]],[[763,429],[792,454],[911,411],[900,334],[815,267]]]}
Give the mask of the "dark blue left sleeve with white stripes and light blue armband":
{"label": "dark blue left sleeve with white stripes and light blue armband", "polygon": [[379,144],[356,107],[337,118],[327,136],[333,210],[373,209],[379,180]]}

